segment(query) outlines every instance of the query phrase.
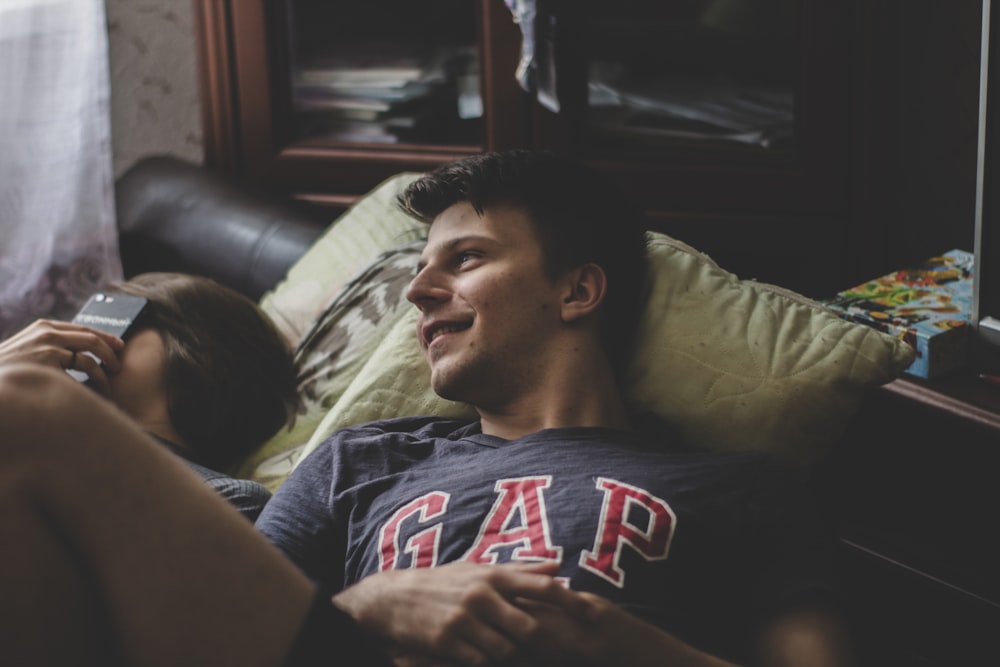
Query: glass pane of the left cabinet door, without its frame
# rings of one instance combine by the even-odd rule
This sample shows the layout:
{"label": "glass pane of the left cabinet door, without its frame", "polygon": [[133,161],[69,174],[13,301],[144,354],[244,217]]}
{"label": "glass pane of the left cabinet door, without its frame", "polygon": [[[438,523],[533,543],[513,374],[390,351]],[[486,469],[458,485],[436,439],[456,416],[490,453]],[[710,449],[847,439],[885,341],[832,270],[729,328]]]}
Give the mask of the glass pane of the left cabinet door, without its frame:
{"label": "glass pane of the left cabinet door, without its frame", "polygon": [[476,3],[284,4],[288,141],[482,142]]}

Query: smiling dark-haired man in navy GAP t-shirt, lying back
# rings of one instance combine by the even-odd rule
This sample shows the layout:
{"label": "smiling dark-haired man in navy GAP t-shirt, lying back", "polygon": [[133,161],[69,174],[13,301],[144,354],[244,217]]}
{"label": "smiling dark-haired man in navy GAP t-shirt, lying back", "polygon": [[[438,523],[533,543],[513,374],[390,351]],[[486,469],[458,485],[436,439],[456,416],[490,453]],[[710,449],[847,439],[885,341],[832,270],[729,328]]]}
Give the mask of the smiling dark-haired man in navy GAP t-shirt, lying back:
{"label": "smiling dark-haired man in navy GAP t-shirt, lying back", "polygon": [[[847,664],[827,544],[783,476],[633,432],[639,217],[521,151],[447,165],[402,204],[430,224],[407,297],[433,388],[480,418],[334,434],[261,531],[415,664]],[[539,574],[575,600],[522,599]]]}

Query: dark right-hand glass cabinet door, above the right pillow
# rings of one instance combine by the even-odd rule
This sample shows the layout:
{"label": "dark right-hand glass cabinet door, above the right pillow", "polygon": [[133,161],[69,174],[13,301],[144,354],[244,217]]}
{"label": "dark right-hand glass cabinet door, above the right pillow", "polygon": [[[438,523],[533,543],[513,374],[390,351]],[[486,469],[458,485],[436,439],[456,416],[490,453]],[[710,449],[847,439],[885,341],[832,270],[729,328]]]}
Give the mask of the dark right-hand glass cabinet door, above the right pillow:
{"label": "dark right-hand glass cabinet door, above the right pillow", "polygon": [[555,76],[538,78],[548,89],[536,147],[605,169],[661,217],[801,213],[846,198],[841,0],[540,6],[552,15],[538,23],[537,70]]}

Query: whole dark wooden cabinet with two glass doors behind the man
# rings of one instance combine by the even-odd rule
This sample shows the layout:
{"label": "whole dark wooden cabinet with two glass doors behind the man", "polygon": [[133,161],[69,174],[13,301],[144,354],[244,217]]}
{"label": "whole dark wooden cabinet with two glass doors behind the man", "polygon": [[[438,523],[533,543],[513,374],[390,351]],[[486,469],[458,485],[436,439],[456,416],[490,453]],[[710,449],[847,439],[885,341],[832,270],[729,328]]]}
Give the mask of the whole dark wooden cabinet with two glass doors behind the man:
{"label": "whole dark wooden cabinet with two glass doors behind the man", "polygon": [[[206,161],[260,187],[336,210],[399,171],[546,148],[600,169],[652,228],[741,277],[817,298],[971,249],[976,59],[954,47],[977,33],[962,7],[538,0],[538,95],[515,76],[529,22],[515,23],[504,0],[195,4]],[[900,57],[918,41],[914,25],[940,28],[919,45],[938,68],[920,85]],[[337,71],[367,68],[361,83],[372,84],[389,56],[427,52],[460,56],[435,101],[409,109],[431,122],[335,127]],[[947,94],[930,99],[932,86]],[[949,142],[933,133],[941,127],[966,130]],[[947,163],[921,154],[944,145]],[[941,210],[954,219],[935,218]]]}

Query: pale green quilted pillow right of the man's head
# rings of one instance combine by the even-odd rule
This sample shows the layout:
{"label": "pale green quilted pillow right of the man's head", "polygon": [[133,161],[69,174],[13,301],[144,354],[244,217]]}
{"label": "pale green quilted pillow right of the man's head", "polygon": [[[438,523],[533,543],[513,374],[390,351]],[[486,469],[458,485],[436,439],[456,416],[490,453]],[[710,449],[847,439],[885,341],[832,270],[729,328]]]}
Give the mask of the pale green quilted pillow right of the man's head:
{"label": "pale green quilted pillow right of the man's head", "polygon": [[843,434],[864,390],[913,360],[901,340],[649,236],[650,294],[627,395],[692,445],[814,461]]}

